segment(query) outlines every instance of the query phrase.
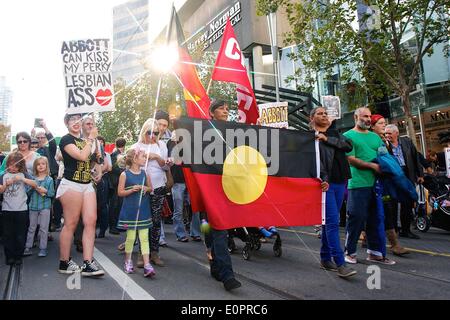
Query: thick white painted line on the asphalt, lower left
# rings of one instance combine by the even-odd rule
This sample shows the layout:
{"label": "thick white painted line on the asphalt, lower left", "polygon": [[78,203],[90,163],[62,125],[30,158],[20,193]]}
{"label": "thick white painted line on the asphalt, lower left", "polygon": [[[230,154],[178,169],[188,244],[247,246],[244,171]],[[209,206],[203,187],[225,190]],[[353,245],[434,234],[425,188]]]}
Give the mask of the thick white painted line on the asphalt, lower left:
{"label": "thick white painted line on the asphalt, lower left", "polygon": [[123,270],[117,267],[107,256],[94,247],[95,260],[100,263],[111,278],[130,296],[133,300],[155,300],[147,291],[142,289],[133,279]]}

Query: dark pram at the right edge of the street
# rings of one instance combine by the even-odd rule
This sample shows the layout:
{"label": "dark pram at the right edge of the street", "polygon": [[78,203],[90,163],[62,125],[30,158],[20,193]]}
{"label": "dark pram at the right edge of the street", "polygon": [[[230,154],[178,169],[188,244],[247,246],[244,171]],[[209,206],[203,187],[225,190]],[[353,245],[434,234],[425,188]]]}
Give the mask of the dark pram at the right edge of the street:
{"label": "dark pram at the right edge of the street", "polygon": [[418,194],[417,229],[427,232],[433,226],[450,231],[450,179],[443,174],[426,174]]}

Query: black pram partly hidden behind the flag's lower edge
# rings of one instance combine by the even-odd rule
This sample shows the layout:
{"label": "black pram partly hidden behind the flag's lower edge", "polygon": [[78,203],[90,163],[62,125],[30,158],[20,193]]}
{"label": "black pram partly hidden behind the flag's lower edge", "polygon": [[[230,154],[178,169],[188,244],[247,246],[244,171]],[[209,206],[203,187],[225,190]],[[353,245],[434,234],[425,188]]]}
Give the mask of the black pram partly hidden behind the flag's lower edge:
{"label": "black pram partly hidden behind the flag's lower edge", "polygon": [[[281,249],[281,237],[278,232],[274,234],[275,242],[273,244],[273,254],[275,257],[281,257],[283,251]],[[233,253],[237,250],[234,238],[239,238],[245,242],[245,246],[242,249],[242,257],[244,260],[249,260],[251,252],[253,250],[261,249],[261,239],[264,237],[261,230],[254,227],[243,227],[237,229],[228,230],[228,251]]]}

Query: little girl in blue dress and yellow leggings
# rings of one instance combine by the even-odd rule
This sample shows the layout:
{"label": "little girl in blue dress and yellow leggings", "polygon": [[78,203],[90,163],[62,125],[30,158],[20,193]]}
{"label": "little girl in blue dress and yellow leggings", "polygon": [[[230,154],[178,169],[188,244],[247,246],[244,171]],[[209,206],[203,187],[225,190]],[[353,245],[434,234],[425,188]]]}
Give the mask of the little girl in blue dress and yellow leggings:
{"label": "little girl in blue dress and yellow leggings", "polygon": [[120,210],[118,228],[127,230],[125,240],[126,273],[133,273],[133,252],[136,233],[139,232],[141,252],[144,259],[144,277],[152,277],[155,270],[150,264],[150,246],[148,242],[149,229],[152,227],[149,194],[153,188],[150,177],[141,168],[145,166],[146,156],[144,150],[130,149],[126,153],[127,169],[119,177],[117,194],[123,197]]}

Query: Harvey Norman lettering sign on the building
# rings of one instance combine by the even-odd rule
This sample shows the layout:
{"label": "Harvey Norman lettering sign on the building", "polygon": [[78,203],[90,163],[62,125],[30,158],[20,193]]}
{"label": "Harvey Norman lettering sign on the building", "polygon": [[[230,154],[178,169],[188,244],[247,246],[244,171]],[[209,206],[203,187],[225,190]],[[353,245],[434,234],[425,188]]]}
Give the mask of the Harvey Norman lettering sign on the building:
{"label": "Harvey Norman lettering sign on the building", "polygon": [[204,51],[208,49],[214,42],[219,40],[223,35],[223,31],[225,30],[227,18],[230,18],[232,26],[242,20],[241,3],[239,1],[233,4],[223,14],[217,16],[213,21],[211,21],[205,27],[205,31],[203,31],[203,33],[201,33],[195,41],[192,41],[188,44],[188,50],[192,52],[195,51],[198,47],[201,47],[201,50]]}

